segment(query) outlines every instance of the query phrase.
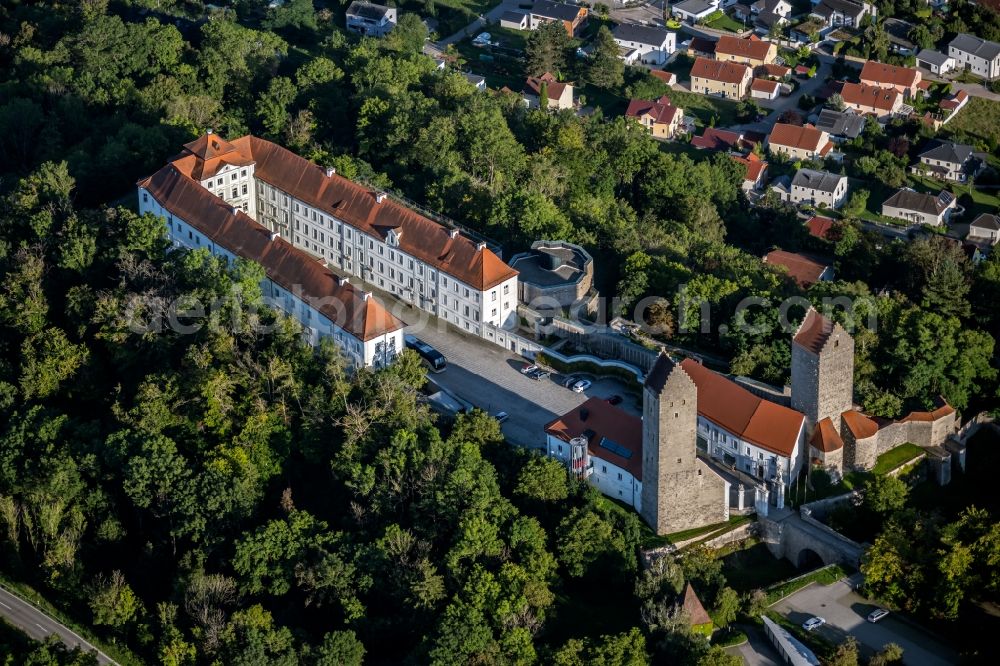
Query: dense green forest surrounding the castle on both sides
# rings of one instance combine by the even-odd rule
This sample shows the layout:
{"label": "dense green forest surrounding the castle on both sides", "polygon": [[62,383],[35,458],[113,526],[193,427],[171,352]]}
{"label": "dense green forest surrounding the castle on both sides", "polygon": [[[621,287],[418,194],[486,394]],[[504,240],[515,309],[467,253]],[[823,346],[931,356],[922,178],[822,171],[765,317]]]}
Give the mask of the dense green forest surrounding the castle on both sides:
{"label": "dense green forest surrounding the castle on both sides", "polygon": [[[259,267],[167,253],[161,223],[128,210],[134,183],[208,127],[390,186],[509,252],[584,243],[606,293],[708,303],[708,332],[658,323],[775,383],[776,312],[752,310],[752,333],[715,322],[747,296],[803,295],[764,251],[830,252],[843,280],[804,295],[877,312],[856,333],[867,409],[995,405],[997,253],[973,268],[941,239],[888,243],[850,221],[819,245],[748,207],[726,156],[438,73],[418,21],[359,40],[339,3],[230,4],[0,5],[2,570],[138,659],[721,664],[673,610],[683,582],[717,623],[760,611],[698,552],[640,576],[634,514],[510,450],[483,414],[436,421],[416,359],[348,374],[254,307]],[[918,130],[865,141],[902,135]],[[195,301],[222,308],[193,334],[128,326]],[[79,659],[0,645],[13,663]]]}

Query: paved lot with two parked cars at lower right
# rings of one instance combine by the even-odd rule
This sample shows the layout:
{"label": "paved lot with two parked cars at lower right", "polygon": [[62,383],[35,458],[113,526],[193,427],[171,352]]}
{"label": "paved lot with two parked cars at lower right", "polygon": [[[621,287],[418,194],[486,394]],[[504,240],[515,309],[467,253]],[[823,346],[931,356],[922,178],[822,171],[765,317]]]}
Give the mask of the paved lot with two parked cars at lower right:
{"label": "paved lot with two parked cars at lower right", "polygon": [[908,664],[958,663],[958,655],[951,648],[895,614],[890,613],[878,624],[868,622],[866,618],[875,607],[874,602],[855,593],[846,580],[828,586],[809,585],[773,606],[798,624],[814,615],[825,618],[826,625],[817,629],[817,633],[833,643],[854,636],[862,654],[870,655],[887,643],[896,643],[903,648],[903,660]]}

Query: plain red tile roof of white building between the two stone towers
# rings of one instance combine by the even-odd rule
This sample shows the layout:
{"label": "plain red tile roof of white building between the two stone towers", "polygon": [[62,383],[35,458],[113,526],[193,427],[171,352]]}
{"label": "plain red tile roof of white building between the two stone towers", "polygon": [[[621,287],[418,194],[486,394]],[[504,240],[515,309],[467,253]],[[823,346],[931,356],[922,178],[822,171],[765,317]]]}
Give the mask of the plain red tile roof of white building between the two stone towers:
{"label": "plain red tile roof of white building between the two stone towers", "polygon": [[805,417],[763,400],[697,361],[681,368],[698,387],[698,413],[732,434],[783,456],[792,455]]}

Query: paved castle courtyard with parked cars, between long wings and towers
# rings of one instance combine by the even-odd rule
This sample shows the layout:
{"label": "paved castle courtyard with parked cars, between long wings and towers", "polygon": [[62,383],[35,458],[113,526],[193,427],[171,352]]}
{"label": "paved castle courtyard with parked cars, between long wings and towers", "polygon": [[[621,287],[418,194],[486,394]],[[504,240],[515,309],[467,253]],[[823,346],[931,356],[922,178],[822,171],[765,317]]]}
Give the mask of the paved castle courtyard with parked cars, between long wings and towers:
{"label": "paved castle courtyard with parked cars, between long wings and towers", "polygon": [[[411,322],[406,313],[403,320]],[[406,332],[430,344],[448,360],[444,372],[432,375],[435,383],[491,414],[507,412],[510,418],[503,424],[503,432],[518,446],[544,448],[545,424],[591,397],[620,395],[623,401],[619,407],[640,413],[637,396],[628,393],[617,379],[574,375],[593,382],[583,393],[574,393],[562,385],[567,375],[553,372],[544,379],[527,377],[521,373],[527,363],[521,356],[460,333],[436,318],[425,325],[410,326]]]}

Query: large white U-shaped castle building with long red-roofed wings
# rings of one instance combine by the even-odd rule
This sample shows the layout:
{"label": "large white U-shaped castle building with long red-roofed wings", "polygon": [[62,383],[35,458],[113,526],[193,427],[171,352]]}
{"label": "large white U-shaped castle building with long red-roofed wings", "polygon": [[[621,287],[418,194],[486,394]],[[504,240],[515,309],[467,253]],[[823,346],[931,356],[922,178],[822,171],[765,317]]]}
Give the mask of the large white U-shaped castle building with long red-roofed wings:
{"label": "large white U-shaped castle building with long red-roofed wings", "polygon": [[391,361],[404,324],[348,276],[491,341],[516,322],[517,271],[485,243],[270,141],[208,131],[138,188],[175,244],[260,263],[265,295],[356,365]]}

